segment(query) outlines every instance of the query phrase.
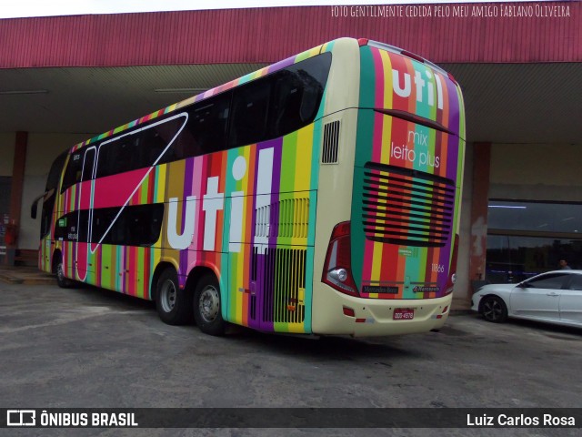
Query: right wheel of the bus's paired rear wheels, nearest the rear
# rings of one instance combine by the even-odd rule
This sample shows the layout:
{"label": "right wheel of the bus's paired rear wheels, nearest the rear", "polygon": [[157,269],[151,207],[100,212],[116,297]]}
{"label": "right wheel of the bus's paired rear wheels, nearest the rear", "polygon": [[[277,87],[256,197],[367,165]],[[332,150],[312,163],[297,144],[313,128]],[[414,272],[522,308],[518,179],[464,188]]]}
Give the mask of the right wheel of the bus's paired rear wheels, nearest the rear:
{"label": "right wheel of the bus's paired rear wheels, nearest the rear", "polygon": [[222,318],[220,287],[216,276],[206,273],[196,283],[194,291],[194,319],[205,334],[223,335],[226,322]]}

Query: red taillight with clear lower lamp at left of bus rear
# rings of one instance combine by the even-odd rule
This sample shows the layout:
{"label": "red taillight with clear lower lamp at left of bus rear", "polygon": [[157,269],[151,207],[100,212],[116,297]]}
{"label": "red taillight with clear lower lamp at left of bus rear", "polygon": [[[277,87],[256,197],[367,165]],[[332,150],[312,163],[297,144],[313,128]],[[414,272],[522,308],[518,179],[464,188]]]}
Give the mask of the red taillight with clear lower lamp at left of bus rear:
{"label": "red taillight with clear lower lamp at left of bus rear", "polygon": [[352,276],[352,249],[350,244],[350,222],[338,223],[327,246],[324,283],[337,291],[359,296]]}

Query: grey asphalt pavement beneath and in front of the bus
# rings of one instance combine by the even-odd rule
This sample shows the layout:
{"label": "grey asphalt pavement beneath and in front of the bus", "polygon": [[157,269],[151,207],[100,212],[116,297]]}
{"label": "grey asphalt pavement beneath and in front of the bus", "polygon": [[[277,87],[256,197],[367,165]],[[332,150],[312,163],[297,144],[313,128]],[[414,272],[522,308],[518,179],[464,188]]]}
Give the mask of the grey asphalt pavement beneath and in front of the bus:
{"label": "grey asphalt pavement beneath and in front of the bus", "polygon": [[[455,312],[440,332],[400,337],[312,339],[236,327],[211,337],[193,325],[166,325],[152,302],[112,291],[2,282],[0,338],[3,408],[570,408],[582,399],[582,330],[497,325],[467,311]],[[140,430],[75,431],[67,435]],[[355,435],[349,431],[157,429],[144,435]]]}

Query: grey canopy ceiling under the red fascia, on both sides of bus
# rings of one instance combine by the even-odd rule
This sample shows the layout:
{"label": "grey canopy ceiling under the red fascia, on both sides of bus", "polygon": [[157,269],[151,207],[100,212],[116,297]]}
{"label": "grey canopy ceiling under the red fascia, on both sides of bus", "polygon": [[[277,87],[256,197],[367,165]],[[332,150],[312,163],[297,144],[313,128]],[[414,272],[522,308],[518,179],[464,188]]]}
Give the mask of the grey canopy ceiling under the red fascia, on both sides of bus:
{"label": "grey canopy ceiling under the red fascia, on both sides of bus", "polygon": [[[100,134],[265,64],[0,69],[0,132]],[[467,141],[579,143],[582,63],[446,64]]]}

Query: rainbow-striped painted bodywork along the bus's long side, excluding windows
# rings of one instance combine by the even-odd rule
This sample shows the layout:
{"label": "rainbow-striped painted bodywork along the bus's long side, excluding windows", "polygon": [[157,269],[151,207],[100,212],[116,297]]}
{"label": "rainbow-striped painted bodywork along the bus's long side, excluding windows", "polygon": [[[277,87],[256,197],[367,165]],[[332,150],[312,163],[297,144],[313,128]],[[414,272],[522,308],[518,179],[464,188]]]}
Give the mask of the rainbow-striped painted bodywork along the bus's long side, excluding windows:
{"label": "rainbow-striped painted bodywork along the bus's long side, excluding windows", "polygon": [[[182,107],[320,51],[316,47],[117,127],[75,145],[71,153],[156,117],[179,114]],[[264,143],[65,189],[56,198],[54,223],[79,208],[165,204],[161,235],[152,247],[100,244],[95,235],[90,243],[55,241],[54,249],[63,254],[65,276],[155,299],[152,281],[161,262],[176,268],[181,287],[193,269],[204,267],[219,279],[226,320],[261,330],[310,332],[320,129],[321,122],[316,120]],[[171,216],[171,210],[175,215]],[[190,230],[187,247],[176,247],[176,241],[182,241],[180,237]],[[41,245],[41,266],[46,271],[51,270],[50,239]]]}

